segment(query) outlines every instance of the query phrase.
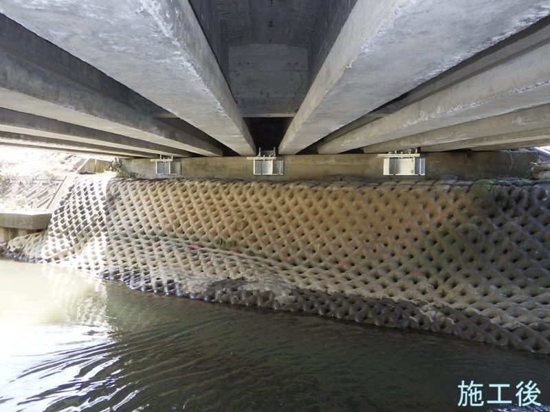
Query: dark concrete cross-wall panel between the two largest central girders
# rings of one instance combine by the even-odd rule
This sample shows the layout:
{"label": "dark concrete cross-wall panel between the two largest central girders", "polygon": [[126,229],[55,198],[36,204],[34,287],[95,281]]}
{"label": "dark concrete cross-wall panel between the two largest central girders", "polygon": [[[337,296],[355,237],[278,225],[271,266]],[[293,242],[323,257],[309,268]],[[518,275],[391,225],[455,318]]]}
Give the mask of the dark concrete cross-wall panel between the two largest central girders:
{"label": "dark concrete cross-wall panel between the two largest central girders", "polygon": [[307,93],[306,47],[250,44],[229,48],[229,84],[244,117],[292,116]]}

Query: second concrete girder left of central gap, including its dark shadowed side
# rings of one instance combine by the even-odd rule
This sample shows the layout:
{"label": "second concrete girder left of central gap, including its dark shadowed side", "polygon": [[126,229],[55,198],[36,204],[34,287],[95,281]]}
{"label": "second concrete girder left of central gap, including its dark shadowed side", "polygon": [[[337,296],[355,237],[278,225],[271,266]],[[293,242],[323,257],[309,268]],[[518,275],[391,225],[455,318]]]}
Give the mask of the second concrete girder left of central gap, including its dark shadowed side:
{"label": "second concrete girder left of central gap, including its dark shadowed side", "polygon": [[[93,73],[89,73],[89,71]],[[0,106],[201,155],[222,150],[103,93],[94,67],[0,15]]]}

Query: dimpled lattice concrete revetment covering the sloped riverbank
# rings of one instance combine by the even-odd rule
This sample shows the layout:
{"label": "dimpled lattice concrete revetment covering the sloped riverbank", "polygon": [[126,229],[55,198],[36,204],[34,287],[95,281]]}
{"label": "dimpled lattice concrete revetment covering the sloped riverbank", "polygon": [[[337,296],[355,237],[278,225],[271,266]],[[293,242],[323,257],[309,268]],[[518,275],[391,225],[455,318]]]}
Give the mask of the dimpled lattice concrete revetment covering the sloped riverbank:
{"label": "dimpled lattice concrete revetment covering the sloped riverbank", "polygon": [[131,288],[550,352],[550,183],[85,181],[5,251]]}

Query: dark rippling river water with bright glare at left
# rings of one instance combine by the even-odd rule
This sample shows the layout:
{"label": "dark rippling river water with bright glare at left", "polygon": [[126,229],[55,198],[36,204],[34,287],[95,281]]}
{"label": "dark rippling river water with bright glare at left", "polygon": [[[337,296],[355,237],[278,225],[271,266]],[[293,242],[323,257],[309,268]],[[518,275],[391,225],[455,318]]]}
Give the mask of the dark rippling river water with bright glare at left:
{"label": "dark rippling river water with bright glare at left", "polygon": [[461,380],[533,380],[550,404],[546,356],[151,295],[55,266],[0,260],[0,282],[1,411],[466,410]]}

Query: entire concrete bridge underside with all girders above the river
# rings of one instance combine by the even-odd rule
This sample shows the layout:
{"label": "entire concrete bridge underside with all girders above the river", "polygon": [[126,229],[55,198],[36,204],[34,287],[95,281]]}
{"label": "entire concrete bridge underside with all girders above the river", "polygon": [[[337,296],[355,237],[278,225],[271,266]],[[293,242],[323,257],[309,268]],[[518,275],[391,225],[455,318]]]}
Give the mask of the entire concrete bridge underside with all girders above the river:
{"label": "entire concrete bridge underside with all girders above the river", "polygon": [[0,145],[126,158],[550,144],[543,0],[0,1]]}

